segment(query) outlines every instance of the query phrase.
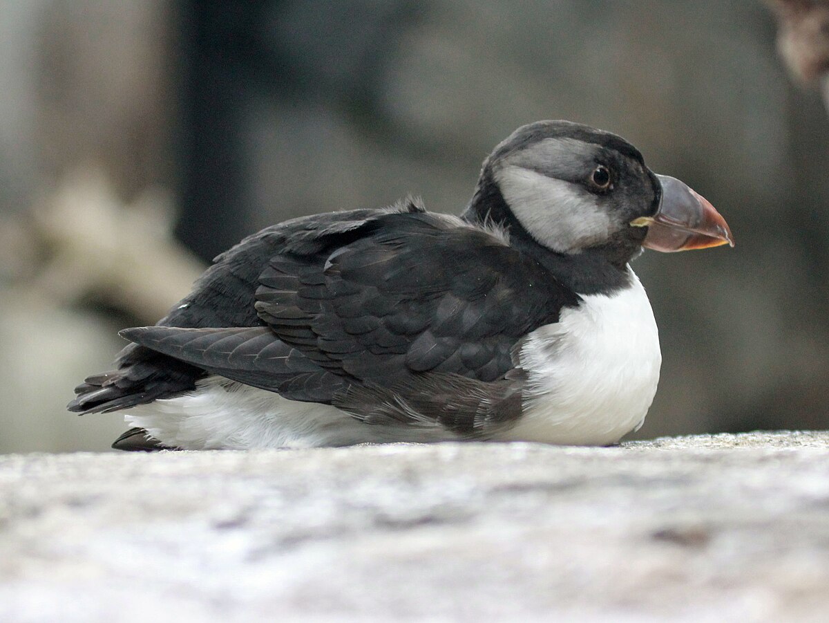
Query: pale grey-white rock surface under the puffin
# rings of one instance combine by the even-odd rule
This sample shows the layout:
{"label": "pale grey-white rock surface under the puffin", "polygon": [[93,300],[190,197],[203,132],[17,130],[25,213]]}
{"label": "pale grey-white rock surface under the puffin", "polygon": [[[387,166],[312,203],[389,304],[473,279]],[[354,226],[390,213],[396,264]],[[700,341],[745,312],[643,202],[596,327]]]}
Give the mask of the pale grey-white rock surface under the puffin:
{"label": "pale grey-white rock surface under the puffin", "polygon": [[0,456],[0,621],[826,621],[829,433]]}

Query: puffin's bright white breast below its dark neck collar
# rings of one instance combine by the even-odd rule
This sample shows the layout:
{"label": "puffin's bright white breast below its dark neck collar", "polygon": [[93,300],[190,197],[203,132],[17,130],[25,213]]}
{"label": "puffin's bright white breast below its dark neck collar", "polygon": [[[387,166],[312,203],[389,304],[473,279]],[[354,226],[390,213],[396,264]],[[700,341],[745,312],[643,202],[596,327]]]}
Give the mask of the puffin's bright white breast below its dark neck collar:
{"label": "puffin's bright white breast below its dark neck collar", "polygon": [[631,287],[583,296],[528,336],[519,353],[524,415],[499,439],[608,445],[641,426],[662,353],[647,294],[630,275]]}

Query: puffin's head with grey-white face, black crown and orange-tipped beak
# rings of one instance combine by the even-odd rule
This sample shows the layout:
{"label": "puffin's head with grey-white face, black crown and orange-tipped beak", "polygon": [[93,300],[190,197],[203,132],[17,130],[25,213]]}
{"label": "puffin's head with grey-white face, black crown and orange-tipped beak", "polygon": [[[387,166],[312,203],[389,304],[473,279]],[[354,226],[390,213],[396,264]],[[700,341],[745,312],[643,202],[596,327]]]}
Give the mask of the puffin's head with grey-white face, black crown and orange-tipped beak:
{"label": "puffin's head with grey-white face, black crown and orange-tipped beak", "polygon": [[525,125],[499,144],[469,210],[492,212],[492,194],[505,204],[505,224],[514,219],[557,254],[592,251],[626,264],[642,246],[734,244],[723,217],[691,188],[653,173],[626,140],[569,121]]}

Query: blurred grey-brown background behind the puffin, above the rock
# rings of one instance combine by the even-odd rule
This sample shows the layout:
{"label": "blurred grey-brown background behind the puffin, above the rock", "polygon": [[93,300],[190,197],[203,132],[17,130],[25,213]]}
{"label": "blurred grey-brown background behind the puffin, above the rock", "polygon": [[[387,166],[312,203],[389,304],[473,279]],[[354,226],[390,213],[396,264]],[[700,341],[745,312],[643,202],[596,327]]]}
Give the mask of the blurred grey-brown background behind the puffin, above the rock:
{"label": "blurred grey-brown background behind the puffin, above the rock", "polygon": [[241,237],[459,212],[536,119],[623,135],[734,231],[634,266],[664,358],[637,436],[826,428],[825,67],[797,45],[822,3],[0,0],[0,452],[108,449],[120,416],[72,388]]}

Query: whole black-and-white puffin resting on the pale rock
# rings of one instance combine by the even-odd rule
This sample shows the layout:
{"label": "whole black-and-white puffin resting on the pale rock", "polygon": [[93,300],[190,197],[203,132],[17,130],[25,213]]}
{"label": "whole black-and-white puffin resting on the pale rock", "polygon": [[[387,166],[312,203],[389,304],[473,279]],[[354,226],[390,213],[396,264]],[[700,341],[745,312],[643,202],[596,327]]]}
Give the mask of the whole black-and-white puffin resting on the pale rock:
{"label": "whole black-and-white puffin resting on the pale rock", "polygon": [[217,256],[68,409],[123,411],[119,450],[445,440],[613,445],[657,391],[630,262],[734,238],[627,140],[516,129],[459,216],[408,197],[299,217]]}

